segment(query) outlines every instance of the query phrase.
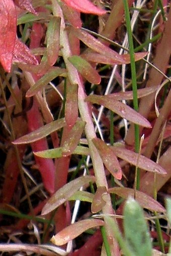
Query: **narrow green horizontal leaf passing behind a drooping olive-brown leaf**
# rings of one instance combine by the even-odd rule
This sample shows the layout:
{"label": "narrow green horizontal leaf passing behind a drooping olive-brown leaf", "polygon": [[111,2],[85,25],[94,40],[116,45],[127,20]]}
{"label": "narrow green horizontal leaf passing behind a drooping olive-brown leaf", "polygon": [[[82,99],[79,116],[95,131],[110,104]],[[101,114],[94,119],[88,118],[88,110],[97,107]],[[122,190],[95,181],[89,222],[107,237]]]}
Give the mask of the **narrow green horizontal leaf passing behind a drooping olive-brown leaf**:
{"label": "narrow green horizontal leaf passing behind a drooping olive-brown leaf", "polygon": [[[34,152],[34,154],[44,158],[59,158],[63,156],[62,147],[42,150],[42,151]],[[73,150],[72,154],[90,155],[90,150],[88,147],[77,146]]]}

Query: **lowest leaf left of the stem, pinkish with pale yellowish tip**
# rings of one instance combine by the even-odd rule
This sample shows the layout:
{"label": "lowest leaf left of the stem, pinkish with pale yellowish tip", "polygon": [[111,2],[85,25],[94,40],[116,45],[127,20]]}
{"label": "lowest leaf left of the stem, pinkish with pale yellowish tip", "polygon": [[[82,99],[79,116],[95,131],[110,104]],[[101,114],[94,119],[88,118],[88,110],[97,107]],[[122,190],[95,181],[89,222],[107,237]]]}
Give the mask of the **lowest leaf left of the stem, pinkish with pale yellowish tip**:
{"label": "lowest leaf left of the stem, pinkish with pale yellowish tip", "polygon": [[74,239],[85,230],[103,225],[104,221],[99,219],[80,220],[64,228],[59,233],[54,235],[51,238],[51,242],[55,245],[60,246]]}

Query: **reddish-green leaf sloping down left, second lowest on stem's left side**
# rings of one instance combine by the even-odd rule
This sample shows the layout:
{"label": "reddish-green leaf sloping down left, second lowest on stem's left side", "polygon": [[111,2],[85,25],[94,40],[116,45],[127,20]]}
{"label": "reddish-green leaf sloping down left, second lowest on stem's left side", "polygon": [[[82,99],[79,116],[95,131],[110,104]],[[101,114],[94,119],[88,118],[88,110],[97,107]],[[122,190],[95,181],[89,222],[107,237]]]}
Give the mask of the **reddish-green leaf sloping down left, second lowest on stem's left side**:
{"label": "reddish-green leaf sloping down left, second lowest on stem's left side", "polygon": [[42,215],[48,214],[63,204],[82,186],[95,182],[94,176],[79,177],[60,188],[46,203],[42,209]]}

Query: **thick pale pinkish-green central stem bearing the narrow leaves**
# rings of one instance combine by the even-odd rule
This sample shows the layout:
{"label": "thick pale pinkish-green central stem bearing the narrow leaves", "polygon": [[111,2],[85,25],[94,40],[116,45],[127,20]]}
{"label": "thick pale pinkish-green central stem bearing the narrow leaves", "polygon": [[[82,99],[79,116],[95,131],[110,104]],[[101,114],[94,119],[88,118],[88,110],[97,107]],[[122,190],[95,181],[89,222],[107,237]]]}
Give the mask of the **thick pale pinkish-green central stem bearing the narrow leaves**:
{"label": "thick pale pinkish-green central stem bearing the narrow leaves", "polygon": [[[88,139],[89,148],[91,151],[91,158],[93,162],[94,172],[96,176],[96,184],[97,186],[106,186],[108,188],[106,175],[104,171],[104,165],[102,159],[99,155],[98,150],[94,146],[92,139],[96,137],[95,128],[92,120],[92,114],[89,109],[88,103],[84,101],[86,95],[83,89],[82,80],[75,69],[75,67],[68,61],[68,57],[71,56],[71,50],[69,47],[68,35],[65,30],[65,22],[62,14],[62,10],[60,9],[59,5],[55,0],[52,0],[53,6],[53,14],[55,16],[60,16],[61,18],[61,30],[60,30],[60,46],[63,59],[65,61],[65,65],[68,71],[68,78],[71,83],[78,84],[78,109],[81,116],[81,119],[86,122],[85,125],[85,134]],[[106,205],[103,207],[103,214],[113,214],[112,203],[110,199],[110,195],[106,198]],[[110,227],[106,224],[106,232],[108,236],[108,241],[110,242],[111,254],[112,255],[119,255],[119,248],[115,238],[112,236]],[[112,242],[111,242],[111,238]]]}

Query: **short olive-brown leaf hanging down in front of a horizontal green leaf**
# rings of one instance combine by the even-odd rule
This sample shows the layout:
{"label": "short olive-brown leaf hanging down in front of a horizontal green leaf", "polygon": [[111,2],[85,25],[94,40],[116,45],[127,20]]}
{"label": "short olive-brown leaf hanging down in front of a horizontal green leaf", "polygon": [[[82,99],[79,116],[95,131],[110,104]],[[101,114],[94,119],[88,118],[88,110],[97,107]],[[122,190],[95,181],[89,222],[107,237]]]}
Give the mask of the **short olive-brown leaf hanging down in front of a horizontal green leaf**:
{"label": "short olive-brown leaf hanging down in front of a horizontal green leaf", "polygon": [[71,131],[68,134],[67,139],[64,141],[62,146],[63,156],[72,154],[73,150],[76,148],[83,129],[85,127],[84,121],[77,121],[72,127]]}

